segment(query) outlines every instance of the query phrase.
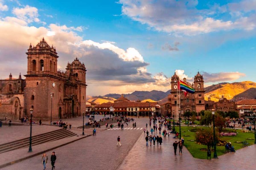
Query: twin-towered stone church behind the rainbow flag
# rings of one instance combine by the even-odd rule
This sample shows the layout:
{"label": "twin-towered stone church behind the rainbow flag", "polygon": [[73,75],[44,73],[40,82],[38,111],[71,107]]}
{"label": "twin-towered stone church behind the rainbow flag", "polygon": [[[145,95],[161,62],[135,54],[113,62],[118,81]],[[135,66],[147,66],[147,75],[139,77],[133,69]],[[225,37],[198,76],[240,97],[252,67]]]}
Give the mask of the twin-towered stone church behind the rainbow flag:
{"label": "twin-towered stone church behind the rainbow flag", "polygon": [[171,102],[171,111],[176,117],[179,114],[185,113],[186,111],[196,111],[200,112],[204,110],[204,78],[201,74],[196,74],[194,77],[194,83],[191,85],[186,81],[186,78],[183,79],[183,82],[186,82],[190,87],[195,89],[194,94],[188,93],[186,96],[183,91],[178,90],[178,81],[179,77],[175,73],[171,79],[171,94],[168,95],[168,100]]}

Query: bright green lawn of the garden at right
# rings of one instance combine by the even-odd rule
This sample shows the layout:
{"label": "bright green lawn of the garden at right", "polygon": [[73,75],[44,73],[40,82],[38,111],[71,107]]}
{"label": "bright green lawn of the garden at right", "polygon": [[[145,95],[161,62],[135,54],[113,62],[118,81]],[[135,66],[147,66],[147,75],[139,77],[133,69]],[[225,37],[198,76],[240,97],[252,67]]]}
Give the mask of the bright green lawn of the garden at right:
{"label": "bright green lawn of the garden at right", "polygon": [[[181,136],[184,138],[185,142],[184,145],[189,150],[189,152],[192,154],[193,157],[198,159],[207,159],[207,151],[202,151],[201,149],[207,149],[206,145],[197,144],[196,142],[191,142],[189,140],[195,140],[195,132],[191,132],[191,130],[194,127],[187,127],[187,126],[181,126]],[[197,127],[197,128],[209,128],[209,127]],[[175,126],[175,129],[179,132],[179,127]],[[184,132],[182,132],[184,131]],[[224,140],[226,142],[231,142],[234,146],[235,150],[241,149],[242,144],[236,143],[237,141],[241,142],[246,140],[250,143],[250,145],[254,144],[254,132],[250,133],[244,133],[241,132],[241,130],[236,130],[238,134],[236,136],[224,136],[221,137],[221,140]],[[186,136],[188,135],[188,136]],[[252,138],[253,140],[248,140],[246,138]],[[218,146],[216,147],[217,155],[221,156],[225,154],[225,146]],[[213,157],[213,152],[212,152]]]}

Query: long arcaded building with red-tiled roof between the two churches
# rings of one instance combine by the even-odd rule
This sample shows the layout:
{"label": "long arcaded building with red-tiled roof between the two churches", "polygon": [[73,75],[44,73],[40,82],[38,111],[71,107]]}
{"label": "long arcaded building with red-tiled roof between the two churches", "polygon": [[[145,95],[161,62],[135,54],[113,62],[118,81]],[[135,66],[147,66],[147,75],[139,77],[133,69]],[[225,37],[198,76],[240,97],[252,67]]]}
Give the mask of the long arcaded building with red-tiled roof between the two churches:
{"label": "long arcaded building with red-tiled roof between the two churches", "polygon": [[93,110],[96,113],[115,114],[124,116],[154,116],[159,114],[160,105],[157,102],[131,102],[123,95],[114,103],[102,103],[96,105]]}

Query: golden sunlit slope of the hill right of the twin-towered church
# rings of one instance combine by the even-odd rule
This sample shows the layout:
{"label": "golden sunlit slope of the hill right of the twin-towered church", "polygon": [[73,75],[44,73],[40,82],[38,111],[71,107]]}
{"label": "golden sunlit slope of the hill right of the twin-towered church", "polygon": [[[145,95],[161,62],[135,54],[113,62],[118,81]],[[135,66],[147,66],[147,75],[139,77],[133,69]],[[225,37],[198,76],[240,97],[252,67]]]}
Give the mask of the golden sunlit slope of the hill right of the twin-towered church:
{"label": "golden sunlit slope of the hill right of the twin-towered church", "polygon": [[[227,99],[233,99],[234,96],[243,93],[244,91],[247,91],[250,88],[256,88],[255,82],[250,81],[244,81],[244,82],[234,82],[234,83],[227,83],[224,85],[212,85],[216,86],[216,88],[213,88],[213,91],[209,91],[204,95],[204,99],[208,100],[208,97],[211,98],[211,100],[218,102],[218,100],[223,95]],[[207,87],[208,88],[208,87]]]}

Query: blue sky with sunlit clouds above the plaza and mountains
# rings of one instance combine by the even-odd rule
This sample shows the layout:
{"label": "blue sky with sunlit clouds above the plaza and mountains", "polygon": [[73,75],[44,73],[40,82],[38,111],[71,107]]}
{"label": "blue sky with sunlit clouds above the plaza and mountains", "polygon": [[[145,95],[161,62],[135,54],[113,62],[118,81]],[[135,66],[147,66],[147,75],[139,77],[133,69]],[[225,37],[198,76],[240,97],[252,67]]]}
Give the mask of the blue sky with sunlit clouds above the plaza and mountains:
{"label": "blue sky with sunlit clouds above the plaza and mountains", "polygon": [[43,37],[58,69],[84,62],[90,96],[168,91],[174,73],[256,82],[256,0],[0,0],[0,79]]}

